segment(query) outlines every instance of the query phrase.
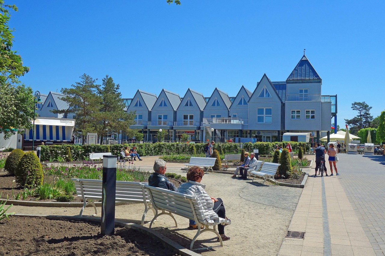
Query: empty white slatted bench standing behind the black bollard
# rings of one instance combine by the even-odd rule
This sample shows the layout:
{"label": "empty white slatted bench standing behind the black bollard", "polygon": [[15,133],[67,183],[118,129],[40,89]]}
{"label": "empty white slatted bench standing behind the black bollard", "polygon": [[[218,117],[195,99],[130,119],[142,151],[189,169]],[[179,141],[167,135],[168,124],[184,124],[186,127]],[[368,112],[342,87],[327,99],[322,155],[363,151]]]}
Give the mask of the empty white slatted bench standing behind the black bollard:
{"label": "empty white slatted bench standing behind the black bollard", "polygon": [[[84,208],[90,204],[94,206],[95,216],[97,209],[92,200],[102,199],[102,180],[99,179],[71,179],[75,183],[76,195],[83,198],[83,207],[80,210],[79,216],[82,216]],[[147,182],[131,182],[131,181],[116,181],[115,201],[117,202],[137,202],[144,203],[144,213],[142,216],[142,226],[147,211],[151,209],[154,214],[155,210],[151,206],[149,196],[146,194],[146,202],[143,197],[141,185],[147,185]],[[90,200],[90,201],[87,201]]]}

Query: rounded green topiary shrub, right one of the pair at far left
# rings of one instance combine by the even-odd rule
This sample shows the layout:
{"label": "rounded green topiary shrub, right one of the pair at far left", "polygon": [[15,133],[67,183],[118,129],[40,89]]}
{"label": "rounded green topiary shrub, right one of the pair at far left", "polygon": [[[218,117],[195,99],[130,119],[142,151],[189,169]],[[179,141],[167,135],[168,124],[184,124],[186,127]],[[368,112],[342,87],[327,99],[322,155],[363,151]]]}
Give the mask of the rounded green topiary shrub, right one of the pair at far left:
{"label": "rounded green topiary shrub, right one of the pair at far left", "polygon": [[42,165],[33,151],[24,154],[15,171],[15,176],[20,186],[34,187],[43,184]]}

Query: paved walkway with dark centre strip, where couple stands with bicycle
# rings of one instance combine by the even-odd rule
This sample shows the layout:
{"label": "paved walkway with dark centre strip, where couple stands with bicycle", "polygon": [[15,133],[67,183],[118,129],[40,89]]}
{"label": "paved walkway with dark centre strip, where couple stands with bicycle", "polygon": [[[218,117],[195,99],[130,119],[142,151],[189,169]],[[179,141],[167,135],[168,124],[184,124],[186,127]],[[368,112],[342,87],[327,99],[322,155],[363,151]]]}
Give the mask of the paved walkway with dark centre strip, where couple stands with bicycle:
{"label": "paved walkway with dark centre strip, where couple stands with bicycle", "polygon": [[339,156],[340,176],[309,177],[288,228],[305,238],[285,238],[278,255],[385,255],[385,158]]}

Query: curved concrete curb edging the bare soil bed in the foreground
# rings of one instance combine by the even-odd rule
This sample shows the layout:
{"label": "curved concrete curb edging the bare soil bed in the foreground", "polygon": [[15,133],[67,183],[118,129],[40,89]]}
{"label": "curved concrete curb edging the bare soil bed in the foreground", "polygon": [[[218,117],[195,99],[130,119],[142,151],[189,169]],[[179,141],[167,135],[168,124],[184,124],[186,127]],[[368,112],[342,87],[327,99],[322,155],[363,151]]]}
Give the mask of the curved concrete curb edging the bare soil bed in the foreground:
{"label": "curved concrete curb edging the bare soil bed in the foreground", "polygon": [[[57,220],[62,220],[62,219],[67,219],[67,220],[86,220],[86,221],[93,221],[93,222],[99,222],[100,223],[100,218],[99,217],[80,217],[80,216],[60,216],[60,215],[33,215],[33,214],[14,214],[13,216],[19,216],[19,217],[44,217],[47,219],[57,219]],[[193,251],[190,251],[189,249],[184,248],[183,246],[175,243],[169,238],[166,238],[162,234],[157,233],[156,231],[143,227],[138,224],[134,223],[128,223],[126,221],[122,220],[115,220],[115,225],[124,227],[124,228],[132,228],[135,229],[136,231],[139,231],[143,234],[147,234],[148,236],[151,236],[152,238],[156,240],[160,240],[161,243],[171,249],[172,251],[181,254],[182,256],[201,256],[201,254],[194,253]]]}

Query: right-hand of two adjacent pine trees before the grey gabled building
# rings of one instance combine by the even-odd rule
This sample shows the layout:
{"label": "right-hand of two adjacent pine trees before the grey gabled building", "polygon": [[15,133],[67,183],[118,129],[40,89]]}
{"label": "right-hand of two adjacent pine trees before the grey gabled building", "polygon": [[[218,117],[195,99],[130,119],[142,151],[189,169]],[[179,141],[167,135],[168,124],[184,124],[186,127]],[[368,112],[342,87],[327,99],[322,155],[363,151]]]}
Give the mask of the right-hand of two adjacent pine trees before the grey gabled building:
{"label": "right-hand of two adjacent pine trees before the grey gabled building", "polygon": [[[97,89],[99,94],[100,109],[94,113],[97,121],[96,130],[101,136],[101,141],[107,131],[130,132],[129,126],[134,124],[135,112],[125,112],[119,84],[115,84],[108,75],[102,79],[102,88]],[[136,134],[136,131],[133,135]],[[134,137],[134,136],[132,136]]]}

